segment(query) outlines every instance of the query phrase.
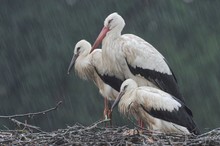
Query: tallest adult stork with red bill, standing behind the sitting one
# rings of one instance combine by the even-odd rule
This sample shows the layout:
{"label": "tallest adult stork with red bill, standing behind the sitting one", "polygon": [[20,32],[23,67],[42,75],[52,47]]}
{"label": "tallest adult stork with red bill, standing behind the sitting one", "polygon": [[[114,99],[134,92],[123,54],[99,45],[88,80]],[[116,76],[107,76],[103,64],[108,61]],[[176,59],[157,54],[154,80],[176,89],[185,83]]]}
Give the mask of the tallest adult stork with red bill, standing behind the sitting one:
{"label": "tallest adult stork with red bill, standing behind the sitting one", "polygon": [[102,42],[103,81],[119,91],[132,78],[139,86],[152,86],[184,102],[176,78],[165,58],[151,44],[133,34],[121,35],[125,26],[118,13],[110,14],[91,52]]}

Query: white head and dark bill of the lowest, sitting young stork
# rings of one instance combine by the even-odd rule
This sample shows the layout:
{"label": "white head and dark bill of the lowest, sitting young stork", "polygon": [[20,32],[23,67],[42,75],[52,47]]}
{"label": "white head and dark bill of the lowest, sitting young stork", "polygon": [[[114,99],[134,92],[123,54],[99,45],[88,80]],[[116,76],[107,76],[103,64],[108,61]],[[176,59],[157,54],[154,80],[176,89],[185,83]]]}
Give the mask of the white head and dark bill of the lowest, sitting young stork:
{"label": "white head and dark bill of the lowest, sitting young stork", "polygon": [[121,88],[120,88],[120,93],[118,94],[118,97],[116,98],[116,100],[114,101],[112,107],[111,107],[111,111],[113,110],[113,108],[119,103],[121,97],[127,92],[127,91],[130,91],[132,89],[135,89],[137,88],[138,85],[137,83],[132,80],[132,79],[127,79],[125,80],[122,85],[121,85]]}

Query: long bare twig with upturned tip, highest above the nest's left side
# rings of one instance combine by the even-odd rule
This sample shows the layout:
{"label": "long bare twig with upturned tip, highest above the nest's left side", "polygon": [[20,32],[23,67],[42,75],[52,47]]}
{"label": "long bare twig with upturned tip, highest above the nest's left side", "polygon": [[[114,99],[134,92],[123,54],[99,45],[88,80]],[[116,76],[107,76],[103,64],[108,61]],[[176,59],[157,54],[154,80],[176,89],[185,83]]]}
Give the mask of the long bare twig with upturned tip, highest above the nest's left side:
{"label": "long bare twig with upturned tip, highest above the nest's left side", "polygon": [[27,117],[33,117],[33,116],[36,116],[36,115],[46,114],[48,112],[56,110],[61,105],[61,103],[62,103],[62,101],[59,101],[55,107],[44,110],[44,111],[40,111],[40,112],[26,113],[26,114],[16,114],[16,115],[9,115],[9,116],[0,116],[0,118],[12,119],[12,118],[18,118],[18,117],[26,117],[26,116]]}

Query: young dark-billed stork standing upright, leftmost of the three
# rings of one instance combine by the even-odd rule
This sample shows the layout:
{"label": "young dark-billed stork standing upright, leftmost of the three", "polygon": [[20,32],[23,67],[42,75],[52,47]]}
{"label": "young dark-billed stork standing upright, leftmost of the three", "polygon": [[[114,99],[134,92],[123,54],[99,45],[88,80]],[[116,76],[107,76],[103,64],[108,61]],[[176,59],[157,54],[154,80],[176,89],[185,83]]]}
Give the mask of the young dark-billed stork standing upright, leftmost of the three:
{"label": "young dark-billed stork standing upright, leftmost of the three", "polygon": [[[108,118],[109,108],[108,100],[115,100],[118,92],[112,89],[109,85],[105,84],[97,72],[103,70],[101,49],[96,49],[90,54],[91,44],[86,40],[81,40],[75,45],[73,58],[68,68],[68,74],[73,66],[79,77],[85,80],[92,80],[98,87],[100,94],[105,98],[104,116]],[[111,121],[110,121],[111,122]]]}

